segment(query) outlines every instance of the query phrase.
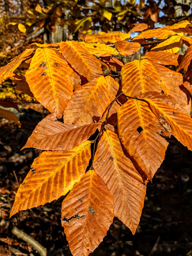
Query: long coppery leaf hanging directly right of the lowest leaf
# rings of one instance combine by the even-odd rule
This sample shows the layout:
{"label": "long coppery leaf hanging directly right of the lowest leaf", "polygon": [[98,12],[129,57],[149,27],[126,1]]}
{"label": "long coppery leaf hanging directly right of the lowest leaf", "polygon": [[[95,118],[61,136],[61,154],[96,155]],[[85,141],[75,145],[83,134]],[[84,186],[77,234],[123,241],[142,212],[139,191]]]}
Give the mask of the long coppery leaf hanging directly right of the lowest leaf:
{"label": "long coppery leaf hanging directly right of the lowest leaf", "polygon": [[118,136],[111,130],[103,132],[93,166],[114,198],[114,215],[134,234],[144,203],[145,179],[123,154]]}

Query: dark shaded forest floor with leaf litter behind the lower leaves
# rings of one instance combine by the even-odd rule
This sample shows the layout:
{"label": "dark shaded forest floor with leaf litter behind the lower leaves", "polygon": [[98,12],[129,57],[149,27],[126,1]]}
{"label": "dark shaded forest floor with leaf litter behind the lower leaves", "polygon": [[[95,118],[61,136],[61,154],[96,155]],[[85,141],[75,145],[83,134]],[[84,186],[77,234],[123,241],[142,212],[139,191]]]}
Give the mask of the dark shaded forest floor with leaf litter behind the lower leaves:
{"label": "dark shaded forest floor with leaf litter behind the lower leaves", "polygon": [[[21,128],[0,121],[0,256],[39,255],[13,235],[16,226],[47,249],[47,255],[69,256],[60,224],[62,198],[37,208],[20,211],[9,219],[19,184],[40,150],[20,148],[42,118],[39,104],[25,105]],[[192,152],[174,137],[152,183],[147,184],[144,208],[135,235],[114,218],[107,235],[91,256],[192,255]],[[15,250],[17,249],[17,250]]]}

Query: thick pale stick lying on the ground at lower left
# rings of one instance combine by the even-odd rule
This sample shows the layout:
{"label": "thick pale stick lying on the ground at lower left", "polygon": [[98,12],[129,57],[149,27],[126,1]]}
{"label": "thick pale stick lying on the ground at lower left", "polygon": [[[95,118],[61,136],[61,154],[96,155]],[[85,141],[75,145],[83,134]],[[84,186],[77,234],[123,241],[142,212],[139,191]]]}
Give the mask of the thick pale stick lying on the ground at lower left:
{"label": "thick pale stick lying on the ground at lower left", "polygon": [[38,251],[40,256],[46,256],[46,249],[30,235],[18,229],[16,226],[13,226],[11,232],[18,238],[24,240],[25,242],[28,242],[34,249]]}

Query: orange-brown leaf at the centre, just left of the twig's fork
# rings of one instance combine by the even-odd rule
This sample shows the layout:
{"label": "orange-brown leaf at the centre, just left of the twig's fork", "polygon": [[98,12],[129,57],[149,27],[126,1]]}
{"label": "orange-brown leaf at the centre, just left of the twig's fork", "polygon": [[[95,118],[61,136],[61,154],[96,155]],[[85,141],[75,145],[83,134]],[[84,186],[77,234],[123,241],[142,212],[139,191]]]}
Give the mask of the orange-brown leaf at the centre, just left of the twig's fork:
{"label": "orange-brown leaf at the centre, just left of the twig's fork", "polygon": [[83,84],[66,105],[64,123],[84,125],[92,123],[93,116],[102,117],[117,91],[118,83],[110,76],[100,76]]}

